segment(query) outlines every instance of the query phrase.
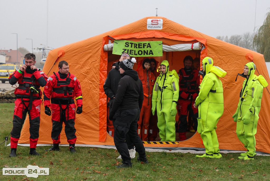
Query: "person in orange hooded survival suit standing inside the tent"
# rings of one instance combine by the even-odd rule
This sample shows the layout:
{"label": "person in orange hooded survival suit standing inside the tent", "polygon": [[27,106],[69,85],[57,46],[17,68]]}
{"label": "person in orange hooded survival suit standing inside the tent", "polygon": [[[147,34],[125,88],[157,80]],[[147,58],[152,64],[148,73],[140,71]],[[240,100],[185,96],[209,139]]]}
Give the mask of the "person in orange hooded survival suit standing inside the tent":
{"label": "person in orange hooded survival suit standing inside the tent", "polygon": [[138,121],[138,135],[141,140],[147,141],[149,133],[149,120],[151,117],[151,108],[152,108],[152,92],[155,83],[155,76],[150,71],[151,61],[149,58],[141,60],[138,62],[137,72],[139,79],[143,83],[143,106],[140,112],[140,119]]}

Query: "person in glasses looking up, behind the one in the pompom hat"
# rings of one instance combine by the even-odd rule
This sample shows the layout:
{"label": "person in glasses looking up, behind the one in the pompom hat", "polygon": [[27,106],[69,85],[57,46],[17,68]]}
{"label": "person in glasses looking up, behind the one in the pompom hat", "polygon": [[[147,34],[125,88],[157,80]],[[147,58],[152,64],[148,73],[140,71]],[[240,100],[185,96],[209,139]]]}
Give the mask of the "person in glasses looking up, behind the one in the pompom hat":
{"label": "person in glasses looking up, behind the one in the pompom hat", "polygon": [[[115,68],[110,70],[110,72],[108,73],[108,76],[106,78],[106,81],[103,85],[103,89],[105,94],[110,98],[109,101],[109,110],[112,109],[112,104],[117,92],[117,88],[118,88],[118,83],[120,81],[120,79],[122,78],[122,76],[120,75],[119,72],[119,63],[122,62],[123,60],[126,59],[130,59],[130,56],[128,53],[122,53],[122,55],[120,56],[120,59],[118,62],[115,63]],[[114,120],[112,120],[114,122]],[[135,153],[136,151],[134,150],[134,145],[133,143],[130,142],[130,138],[127,135],[126,138],[126,142],[129,148],[129,154],[131,158],[135,158]],[[117,159],[121,159],[121,155],[117,158]]]}

